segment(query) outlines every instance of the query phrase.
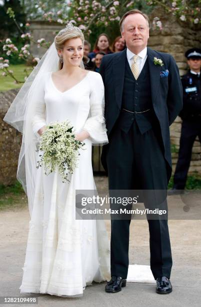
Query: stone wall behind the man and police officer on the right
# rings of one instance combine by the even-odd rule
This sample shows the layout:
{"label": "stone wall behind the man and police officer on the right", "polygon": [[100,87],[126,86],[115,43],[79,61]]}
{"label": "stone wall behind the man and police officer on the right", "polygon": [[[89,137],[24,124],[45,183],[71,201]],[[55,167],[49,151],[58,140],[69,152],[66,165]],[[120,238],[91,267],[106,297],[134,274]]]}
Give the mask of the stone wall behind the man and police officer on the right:
{"label": "stone wall behind the man and police officer on the right", "polygon": [[[193,47],[201,48],[201,27],[199,25],[194,27],[187,26],[175,17],[167,15],[163,10],[154,11],[150,16],[150,20],[155,16],[160,18],[163,29],[161,31],[150,30],[148,46],[160,52],[170,53],[176,61],[180,75],[183,75],[187,71],[185,51]],[[177,116],[170,126],[173,171],[178,157],[180,129],[181,119]],[[201,148],[197,137],[192,149],[189,173],[199,172],[201,174],[200,154]]]}

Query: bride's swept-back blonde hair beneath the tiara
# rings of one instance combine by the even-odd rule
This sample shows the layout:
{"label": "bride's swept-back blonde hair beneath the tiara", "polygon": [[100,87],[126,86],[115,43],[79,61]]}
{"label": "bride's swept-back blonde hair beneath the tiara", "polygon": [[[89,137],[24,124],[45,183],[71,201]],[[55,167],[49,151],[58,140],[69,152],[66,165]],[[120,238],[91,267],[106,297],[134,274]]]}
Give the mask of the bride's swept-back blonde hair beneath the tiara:
{"label": "bride's swept-back blonde hair beneath the tiara", "polygon": [[[82,32],[76,30],[68,30],[63,32],[61,35],[56,35],[54,38],[54,44],[56,50],[62,50],[66,41],[73,39],[73,38],[80,38],[82,45],[84,43],[84,36]],[[59,55],[58,55],[59,57]],[[63,67],[63,63],[59,61],[59,70]]]}

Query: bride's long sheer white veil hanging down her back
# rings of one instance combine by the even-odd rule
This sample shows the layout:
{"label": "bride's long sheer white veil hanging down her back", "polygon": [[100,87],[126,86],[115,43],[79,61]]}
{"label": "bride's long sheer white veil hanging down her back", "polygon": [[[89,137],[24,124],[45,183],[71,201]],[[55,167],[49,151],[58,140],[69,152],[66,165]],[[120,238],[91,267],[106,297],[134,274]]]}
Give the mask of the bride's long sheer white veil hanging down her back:
{"label": "bride's long sheer white veil hanging down her back", "polygon": [[[83,62],[80,65],[84,68]],[[26,79],[17,93],[3,120],[22,133],[22,143],[18,159],[16,178],[28,197],[28,209],[31,216],[36,176],[37,136],[32,131],[31,119],[34,114],[37,89],[46,72],[59,69],[59,57],[54,43],[43,55],[39,63]]]}

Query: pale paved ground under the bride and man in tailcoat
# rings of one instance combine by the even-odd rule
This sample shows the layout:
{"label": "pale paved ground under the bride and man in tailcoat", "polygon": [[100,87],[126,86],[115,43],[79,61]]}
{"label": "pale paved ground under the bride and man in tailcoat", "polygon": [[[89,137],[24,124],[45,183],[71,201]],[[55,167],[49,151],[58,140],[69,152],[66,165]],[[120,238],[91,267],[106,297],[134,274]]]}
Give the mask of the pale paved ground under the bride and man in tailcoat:
{"label": "pale paved ground under the bride and man in tailcoat", "polygon": [[[106,179],[97,178],[103,190]],[[179,203],[179,197],[171,198]],[[0,212],[0,295],[21,296],[22,269],[27,240],[29,214],[26,209]],[[104,283],[86,287],[82,297],[64,298],[39,295],[38,306],[200,306],[201,301],[201,220],[169,220],[173,267],[173,292],[155,293],[154,284],[127,283],[118,293],[105,293]],[[109,235],[110,221],[106,221]],[[146,220],[130,224],[129,259],[132,264],[149,264],[149,238]],[[28,296],[28,295],[26,295]],[[11,306],[11,305],[10,305]],[[13,306],[13,304],[12,304]],[[18,304],[15,304],[18,306]],[[27,305],[28,306],[28,305]]]}

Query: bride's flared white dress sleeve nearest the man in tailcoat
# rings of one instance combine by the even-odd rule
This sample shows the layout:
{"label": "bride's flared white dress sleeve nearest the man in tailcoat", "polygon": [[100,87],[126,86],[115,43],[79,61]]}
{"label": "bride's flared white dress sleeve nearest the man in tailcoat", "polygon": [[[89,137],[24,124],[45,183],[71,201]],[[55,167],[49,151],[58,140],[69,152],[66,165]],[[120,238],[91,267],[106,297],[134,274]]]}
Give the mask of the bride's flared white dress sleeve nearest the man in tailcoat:
{"label": "bride's flared white dress sleeve nearest the man in tailcoat", "polygon": [[104,85],[99,73],[90,76],[90,110],[83,130],[89,133],[92,145],[108,143],[104,119]]}

